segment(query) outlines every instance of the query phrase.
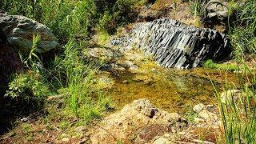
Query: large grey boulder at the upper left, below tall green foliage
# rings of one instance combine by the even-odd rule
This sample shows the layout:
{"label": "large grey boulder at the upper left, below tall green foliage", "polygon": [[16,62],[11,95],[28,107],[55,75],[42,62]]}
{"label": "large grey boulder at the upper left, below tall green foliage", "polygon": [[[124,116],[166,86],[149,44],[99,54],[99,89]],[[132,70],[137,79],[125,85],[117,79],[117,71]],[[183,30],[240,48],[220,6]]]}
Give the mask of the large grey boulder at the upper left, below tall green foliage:
{"label": "large grey boulder at the upper left, below tall green foliage", "polygon": [[28,54],[32,48],[33,34],[39,34],[38,53],[45,53],[59,46],[58,39],[47,26],[30,18],[9,15],[0,11],[0,30],[10,47],[16,52]]}

